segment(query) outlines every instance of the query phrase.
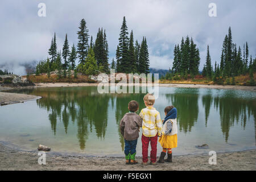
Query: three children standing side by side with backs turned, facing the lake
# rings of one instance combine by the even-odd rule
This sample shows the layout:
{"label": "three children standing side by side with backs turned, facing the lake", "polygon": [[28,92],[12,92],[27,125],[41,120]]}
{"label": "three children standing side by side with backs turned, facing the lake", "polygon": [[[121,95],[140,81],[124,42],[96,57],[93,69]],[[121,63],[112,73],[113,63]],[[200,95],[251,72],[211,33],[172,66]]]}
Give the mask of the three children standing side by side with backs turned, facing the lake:
{"label": "three children standing side by side with backs turned, facing the lake", "polygon": [[146,108],[138,115],[139,104],[130,101],[128,104],[129,113],[126,113],[121,122],[120,130],[125,139],[126,164],[137,164],[135,160],[136,146],[139,137],[139,127],[142,127],[142,164],[148,164],[148,145],[150,143],[150,164],[156,164],[157,141],[163,147],[159,163],[164,163],[164,156],[168,158],[166,162],[172,162],[172,148],[177,147],[177,110],[174,106],[167,106],[164,109],[166,118],[161,121],[159,111],[153,106],[155,97],[153,94],[146,94],[143,98]]}

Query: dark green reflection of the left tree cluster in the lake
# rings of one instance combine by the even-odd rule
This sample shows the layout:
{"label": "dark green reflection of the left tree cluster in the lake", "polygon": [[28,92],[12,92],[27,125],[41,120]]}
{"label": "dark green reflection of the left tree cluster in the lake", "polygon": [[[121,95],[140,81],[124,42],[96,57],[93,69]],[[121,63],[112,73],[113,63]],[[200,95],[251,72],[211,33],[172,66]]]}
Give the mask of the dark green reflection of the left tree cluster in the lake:
{"label": "dark green reflection of the left tree cluster in the lake", "polygon": [[108,125],[108,102],[111,95],[98,94],[97,88],[47,88],[30,90],[30,94],[42,96],[37,100],[40,108],[49,112],[49,121],[56,134],[57,121],[62,121],[65,133],[68,133],[70,119],[77,122],[77,138],[81,150],[85,149],[88,138],[88,124],[92,125],[97,137],[105,138]]}

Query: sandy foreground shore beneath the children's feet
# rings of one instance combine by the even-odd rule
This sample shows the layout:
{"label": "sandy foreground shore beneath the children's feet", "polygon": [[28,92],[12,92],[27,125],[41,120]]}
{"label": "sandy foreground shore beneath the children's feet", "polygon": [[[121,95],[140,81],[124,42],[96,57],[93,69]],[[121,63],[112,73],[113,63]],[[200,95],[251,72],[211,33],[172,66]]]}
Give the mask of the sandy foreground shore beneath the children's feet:
{"label": "sandy foreground shore beneath the children's feet", "polygon": [[208,154],[180,155],[173,157],[173,163],[156,166],[141,164],[126,165],[124,158],[85,157],[46,154],[46,165],[38,164],[38,151],[24,152],[0,144],[0,170],[256,170],[256,150],[217,153],[217,164],[210,165]]}

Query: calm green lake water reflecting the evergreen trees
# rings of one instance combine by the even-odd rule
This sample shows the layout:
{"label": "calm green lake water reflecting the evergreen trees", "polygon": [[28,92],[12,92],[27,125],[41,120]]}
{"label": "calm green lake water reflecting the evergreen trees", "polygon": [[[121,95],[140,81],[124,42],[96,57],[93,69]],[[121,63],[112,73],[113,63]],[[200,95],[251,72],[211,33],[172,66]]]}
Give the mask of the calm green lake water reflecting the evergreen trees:
{"label": "calm green lake water reflecting the evergreen trees", "polygon": [[[14,92],[14,91],[12,91]],[[130,100],[144,107],[144,94],[98,94],[96,87],[19,90],[42,96],[0,107],[0,141],[23,150],[39,144],[53,152],[123,155],[119,121]],[[256,148],[256,93],[241,90],[159,88],[155,108],[177,108],[177,154]],[[208,149],[195,146],[207,143]],[[158,154],[160,153],[158,143]],[[141,156],[141,138],[137,146]]]}

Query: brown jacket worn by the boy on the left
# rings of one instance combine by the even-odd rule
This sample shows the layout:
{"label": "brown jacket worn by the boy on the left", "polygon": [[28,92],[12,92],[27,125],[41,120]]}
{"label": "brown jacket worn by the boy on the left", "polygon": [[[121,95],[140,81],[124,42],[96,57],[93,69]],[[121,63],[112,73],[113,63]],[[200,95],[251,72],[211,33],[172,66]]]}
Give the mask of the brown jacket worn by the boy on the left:
{"label": "brown jacket worn by the boy on the left", "polygon": [[120,130],[126,140],[139,138],[139,127],[142,127],[142,118],[136,113],[126,113],[120,121]]}

